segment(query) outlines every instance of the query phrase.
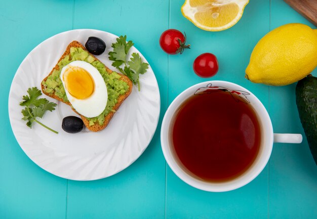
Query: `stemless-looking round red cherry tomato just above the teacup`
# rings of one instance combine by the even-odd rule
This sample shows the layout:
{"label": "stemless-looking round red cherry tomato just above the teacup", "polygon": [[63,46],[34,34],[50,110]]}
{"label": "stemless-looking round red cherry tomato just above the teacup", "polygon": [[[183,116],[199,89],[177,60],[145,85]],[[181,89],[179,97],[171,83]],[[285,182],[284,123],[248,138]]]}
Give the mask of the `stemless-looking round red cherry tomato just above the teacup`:
{"label": "stemless-looking round red cherry tomato just above the teacup", "polygon": [[212,77],[218,71],[218,60],[214,54],[203,53],[197,56],[192,68],[200,77]]}

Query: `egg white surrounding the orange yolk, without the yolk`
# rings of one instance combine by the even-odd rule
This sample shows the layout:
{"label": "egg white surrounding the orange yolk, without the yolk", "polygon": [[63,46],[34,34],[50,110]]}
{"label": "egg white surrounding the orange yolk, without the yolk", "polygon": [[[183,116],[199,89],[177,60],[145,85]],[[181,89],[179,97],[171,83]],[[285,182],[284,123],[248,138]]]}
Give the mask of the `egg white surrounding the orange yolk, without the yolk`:
{"label": "egg white surrounding the orange yolk, without the yolk", "polygon": [[[69,66],[76,66],[85,69],[93,79],[94,91],[92,95],[83,100],[73,97],[66,89],[63,75]],[[62,80],[66,96],[72,107],[85,117],[91,118],[100,115],[106,108],[108,101],[108,91],[100,72],[88,62],[73,61],[64,66],[61,70],[60,78]]]}

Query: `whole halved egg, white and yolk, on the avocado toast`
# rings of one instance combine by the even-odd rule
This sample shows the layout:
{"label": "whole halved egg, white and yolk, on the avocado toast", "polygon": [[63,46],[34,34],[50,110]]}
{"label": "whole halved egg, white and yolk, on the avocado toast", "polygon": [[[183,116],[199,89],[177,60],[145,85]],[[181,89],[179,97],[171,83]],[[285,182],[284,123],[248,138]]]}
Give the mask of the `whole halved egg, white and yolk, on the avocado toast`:
{"label": "whole halved egg, white and yolk, on the avocado toast", "polygon": [[72,107],[85,117],[96,117],[106,108],[107,86],[100,72],[88,62],[73,61],[61,70],[66,96]]}

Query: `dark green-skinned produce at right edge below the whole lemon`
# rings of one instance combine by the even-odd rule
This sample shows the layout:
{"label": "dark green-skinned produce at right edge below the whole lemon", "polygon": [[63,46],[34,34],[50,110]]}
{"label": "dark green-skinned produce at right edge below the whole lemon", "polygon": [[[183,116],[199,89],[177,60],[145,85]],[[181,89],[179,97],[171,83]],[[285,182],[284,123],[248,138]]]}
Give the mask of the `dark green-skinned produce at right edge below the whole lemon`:
{"label": "dark green-skinned produce at right edge below the whole lemon", "polygon": [[308,75],[296,85],[298,114],[317,165],[317,77]]}

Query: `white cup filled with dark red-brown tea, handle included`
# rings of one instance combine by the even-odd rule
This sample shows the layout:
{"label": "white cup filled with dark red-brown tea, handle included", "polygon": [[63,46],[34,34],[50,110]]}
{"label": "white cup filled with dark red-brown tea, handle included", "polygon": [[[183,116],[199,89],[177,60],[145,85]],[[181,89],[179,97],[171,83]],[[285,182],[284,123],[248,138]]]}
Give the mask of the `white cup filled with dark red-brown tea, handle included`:
{"label": "white cup filled with dark red-brown tea, handle included", "polygon": [[263,170],[273,142],[301,143],[300,134],[273,134],[263,104],[244,87],[208,81],[183,91],[165,113],[165,159],[185,183],[201,190],[240,188]]}

